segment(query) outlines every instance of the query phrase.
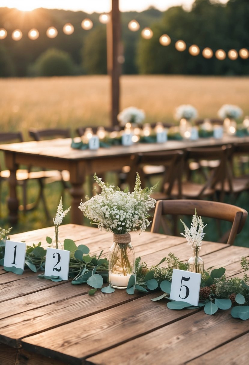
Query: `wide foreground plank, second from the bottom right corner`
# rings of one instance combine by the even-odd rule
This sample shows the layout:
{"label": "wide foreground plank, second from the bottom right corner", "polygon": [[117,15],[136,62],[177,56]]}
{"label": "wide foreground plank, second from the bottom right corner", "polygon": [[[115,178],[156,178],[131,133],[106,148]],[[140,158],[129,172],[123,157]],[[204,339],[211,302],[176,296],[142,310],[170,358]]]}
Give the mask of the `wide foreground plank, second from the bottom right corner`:
{"label": "wide foreground plank, second from the bottom right corner", "polygon": [[[194,316],[89,357],[86,364],[116,365],[122,358],[122,365],[130,365],[131,359],[136,365],[182,365],[201,356],[204,351],[209,352],[247,332],[248,323],[232,318],[228,311],[220,311],[211,316],[200,311]],[[216,358],[212,358],[211,364],[214,363]],[[227,363],[231,364],[221,362]],[[196,364],[202,364],[202,361]]]}

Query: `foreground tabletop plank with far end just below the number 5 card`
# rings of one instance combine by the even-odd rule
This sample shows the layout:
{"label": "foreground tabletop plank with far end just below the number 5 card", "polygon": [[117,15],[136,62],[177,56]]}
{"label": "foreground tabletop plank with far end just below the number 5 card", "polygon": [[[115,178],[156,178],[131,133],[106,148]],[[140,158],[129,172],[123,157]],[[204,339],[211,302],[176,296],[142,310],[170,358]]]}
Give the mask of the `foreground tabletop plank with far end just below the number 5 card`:
{"label": "foreground tabletop plank with far end just below the number 5 card", "polygon": [[[198,311],[171,311],[166,307],[166,301],[150,300],[155,296],[155,293],[149,294],[72,324],[24,338],[22,347],[56,360],[68,361],[71,365],[81,364],[90,354],[104,351],[185,316],[193,317]],[[155,364],[153,361],[150,363]],[[115,364],[120,364],[120,358]]]}

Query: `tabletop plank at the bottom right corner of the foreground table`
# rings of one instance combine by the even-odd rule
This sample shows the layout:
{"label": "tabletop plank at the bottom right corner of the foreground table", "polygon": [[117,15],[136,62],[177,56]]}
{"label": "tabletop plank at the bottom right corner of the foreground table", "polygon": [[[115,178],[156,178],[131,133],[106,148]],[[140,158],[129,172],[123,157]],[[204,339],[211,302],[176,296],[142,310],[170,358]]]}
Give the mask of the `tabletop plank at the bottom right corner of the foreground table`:
{"label": "tabletop plank at the bottom right corner of the foreground table", "polygon": [[188,365],[240,364],[248,365],[249,359],[249,333],[204,354],[195,360],[187,362]]}

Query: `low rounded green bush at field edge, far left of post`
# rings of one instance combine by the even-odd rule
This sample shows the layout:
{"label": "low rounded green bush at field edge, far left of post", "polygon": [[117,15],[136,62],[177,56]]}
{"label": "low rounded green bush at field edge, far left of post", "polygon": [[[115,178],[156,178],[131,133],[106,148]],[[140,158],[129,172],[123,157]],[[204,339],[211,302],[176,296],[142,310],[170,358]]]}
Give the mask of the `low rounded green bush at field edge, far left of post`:
{"label": "low rounded green bush at field edge, far left of post", "polygon": [[69,76],[74,74],[74,63],[69,53],[48,49],[35,61],[37,76]]}

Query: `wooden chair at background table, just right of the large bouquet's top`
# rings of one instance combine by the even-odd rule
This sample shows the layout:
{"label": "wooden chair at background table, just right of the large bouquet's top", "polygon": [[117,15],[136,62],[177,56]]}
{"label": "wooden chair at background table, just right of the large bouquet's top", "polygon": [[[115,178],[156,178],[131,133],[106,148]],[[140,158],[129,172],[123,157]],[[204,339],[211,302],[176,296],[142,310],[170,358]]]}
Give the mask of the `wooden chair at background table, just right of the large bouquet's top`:
{"label": "wooden chair at background table, just right of the large bouquet's top", "polygon": [[161,189],[154,192],[152,197],[156,200],[172,197],[172,188],[175,188],[177,197],[181,197],[181,172],[183,168],[184,153],[181,150],[138,153],[131,156],[130,172],[127,174],[127,183],[130,189],[134,188],[136,173],[138,172],[145,187],[148,168],[161,166],[163,178]]}

